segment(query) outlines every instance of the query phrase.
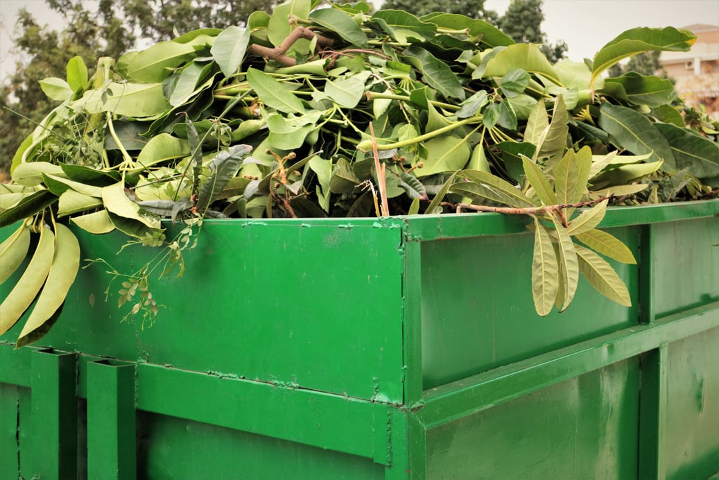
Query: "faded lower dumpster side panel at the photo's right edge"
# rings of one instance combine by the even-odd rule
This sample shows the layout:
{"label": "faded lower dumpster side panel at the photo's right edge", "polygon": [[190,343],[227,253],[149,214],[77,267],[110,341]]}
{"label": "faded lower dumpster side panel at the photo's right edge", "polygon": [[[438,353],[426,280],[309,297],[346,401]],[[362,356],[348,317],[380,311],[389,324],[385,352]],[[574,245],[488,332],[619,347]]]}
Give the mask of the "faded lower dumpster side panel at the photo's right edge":
{"label": "faded lower dumpster side panel at the photo's right edge", "polygon": [[719,328],[667,350],[667,479],[705,479],[719,471]]}

